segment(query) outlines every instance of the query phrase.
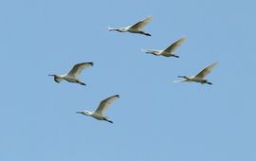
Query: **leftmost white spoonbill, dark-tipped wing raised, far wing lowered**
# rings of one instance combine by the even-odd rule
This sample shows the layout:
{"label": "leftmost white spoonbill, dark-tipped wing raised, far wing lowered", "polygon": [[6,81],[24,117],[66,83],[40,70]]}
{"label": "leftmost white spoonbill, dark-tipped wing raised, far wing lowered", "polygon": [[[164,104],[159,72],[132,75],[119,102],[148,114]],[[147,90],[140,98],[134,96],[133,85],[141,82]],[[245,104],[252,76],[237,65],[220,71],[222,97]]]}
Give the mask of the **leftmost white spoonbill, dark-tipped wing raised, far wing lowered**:
{"label": "leftmost white spoonbill, dark-tipped wing raised, far wing lowered", "polygon": [[86,85],[81,80],[77,78],[77,76],[82,72],[83,69],[93,66],[93,63],[78,63],[73,66],[73,68],[64,75],[48,75],[53,76],[54,80],[60,83],[62,80],[66,80],[68,82],[80,83],[82,85]]}

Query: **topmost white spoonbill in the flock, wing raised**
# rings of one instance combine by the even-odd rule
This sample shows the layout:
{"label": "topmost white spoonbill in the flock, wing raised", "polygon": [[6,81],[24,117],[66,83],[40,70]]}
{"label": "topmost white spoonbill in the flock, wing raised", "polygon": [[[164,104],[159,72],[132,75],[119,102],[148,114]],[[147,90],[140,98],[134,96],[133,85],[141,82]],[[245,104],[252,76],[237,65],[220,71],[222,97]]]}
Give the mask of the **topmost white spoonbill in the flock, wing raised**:
{"label": "topmost white spoonbill in the flock, wing raised", "polygon": [[145,27],[151,21],[152,21],[152,16],[149,16],[149,17],[137,22],[135,25],[132,25],[129,27],[119,27],[119,28],[108,27],[108,30],[109,31],[116,30],[119,32],[131,32],[131,33],[138,33],[138,34],[143,34],[146,36],[151,36],[151,34],[141,30],[142,27]]}

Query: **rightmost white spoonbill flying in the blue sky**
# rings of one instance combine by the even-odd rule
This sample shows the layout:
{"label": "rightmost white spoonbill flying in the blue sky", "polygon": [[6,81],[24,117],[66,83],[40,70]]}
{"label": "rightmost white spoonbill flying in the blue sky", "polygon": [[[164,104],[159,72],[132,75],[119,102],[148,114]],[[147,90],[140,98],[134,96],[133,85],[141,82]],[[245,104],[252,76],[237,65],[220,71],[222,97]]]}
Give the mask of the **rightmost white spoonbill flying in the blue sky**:
{"label": "rightmost white spoonbill flying in the blue sky", "polygon": [[209,66],[204,68],[201,72],[199,72],[197,75],[192,77],[187,76],[178,76],[178,78],[183,78],[184,80],[174,81],[174,82],[183,82],[183,81],[189,81],[189,82],[200,82],[202,84],[208,83],[212,85],[212,83],[208,80],[205,80],[204,78],[211,72],[214,66],[216,66],[217,63],[211,63]]}

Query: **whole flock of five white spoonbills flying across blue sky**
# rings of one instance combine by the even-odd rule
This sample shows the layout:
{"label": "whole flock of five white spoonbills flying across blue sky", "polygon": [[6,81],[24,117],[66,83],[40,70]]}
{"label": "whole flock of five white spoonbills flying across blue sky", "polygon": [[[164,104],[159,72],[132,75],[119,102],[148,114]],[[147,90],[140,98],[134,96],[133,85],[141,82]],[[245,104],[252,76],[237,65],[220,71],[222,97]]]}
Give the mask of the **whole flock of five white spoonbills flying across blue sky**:
{"label": "whole flock of five white spoonbills flying across blue sky", "polygon": [[[139,22],[137,22],[135,25],[129,26],[129,27],[108,27],[109,31],[119,31],[119,32],[131,32],[131,33],[137,33],[137,34],[143,34],[146,36],[151,36],[150,33],[145,32],[142,30],[142,27],[145,27],[147,24],[149,24],[152,20],[152,17],[147,17]],[[155,49],[142,49],[143,52],[153,54],[155,56],[165,56],[165,57],[175,57],[179,58],[179,56],[174,55],[174,50],[182,45],[182,43],[185,41],[185,38],[181,38],[178,41],[174,42],[174,44],[169,45],[167,48],[163,50],[155,50]],[[206,80],[205,77],[211,72],[214,66],[216,66],[217,63],[211,63],[209,66],[204,68],[202,71],[200,71],[198,74],[187,77],[187,76],[178,76],[178,78],[183,78],[183,80],[176,80],[174,82],[183,82],[183,81],[189,81],[189,82],[200,82],[202,84],[207,83],[207,84],[212,84],[210,81]],[[81,74],[82,70],[88,67],[93,66],[93,63],[78,63],[73,66],[73,68],[64,75],[48,75],[48,76],[53,76],[54,80],[58,83],[60,83],[62,80],[66,80],[68,82],[74,82],[74,83],[79,83],[82,85],[86,85],[82,80],[78,79],[78,75]],[[82,112],[77,112],[77,114],[82,114],[84,116],[92,116],[96,119],[99,120],[105,120],[110,123],[113,123],[107,116],[104,115],[105,110],[109,107],[109,105],[114,102],[116,99],[119,98],[119,95],[115,95],[109,98],[105,98],[104,100],[101,101],[100,105],[94,112],[89,112],[89,111],[82,111]]]}

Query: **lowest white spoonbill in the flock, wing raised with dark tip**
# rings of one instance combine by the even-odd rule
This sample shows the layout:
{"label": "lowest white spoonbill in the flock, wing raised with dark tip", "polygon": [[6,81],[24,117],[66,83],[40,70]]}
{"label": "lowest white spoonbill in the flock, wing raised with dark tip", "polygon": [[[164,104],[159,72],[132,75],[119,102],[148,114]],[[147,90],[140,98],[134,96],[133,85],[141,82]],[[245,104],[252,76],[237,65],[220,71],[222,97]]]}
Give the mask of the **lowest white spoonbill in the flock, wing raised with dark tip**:
{"label": "lowest white spoonbill in the flock, wing raised with dark tip", "polygon": [[101,101],[99,107],[97,108],[96,111],[94,112],[89,112],[89,111],[82,111],[82,112],[77,112],[77,114],[82,114],[84,116],[92,116],[98,120],[105,120],[110,123],[113,123],[113,121],[109,120],[107,116],[104,116],[104,112],[106,109],[109,107],[109,105],[114,102],[117,98],[119,98],[119,95],[112,96],[110,98],[105,98],[104,100]]}

